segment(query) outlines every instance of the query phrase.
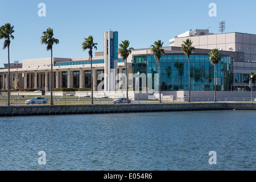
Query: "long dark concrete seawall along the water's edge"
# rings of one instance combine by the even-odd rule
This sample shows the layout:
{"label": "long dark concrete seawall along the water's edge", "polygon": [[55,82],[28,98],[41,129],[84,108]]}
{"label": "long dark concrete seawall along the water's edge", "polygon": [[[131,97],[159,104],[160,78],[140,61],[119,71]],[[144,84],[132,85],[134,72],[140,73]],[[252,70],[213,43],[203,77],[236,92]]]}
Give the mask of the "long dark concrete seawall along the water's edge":
{"label": "long dark concrete seawall along the water's edge", "polygon": [[118,104],[118,105],[55,105],[55,106],[3,106],[0,116],[61,115],[96,113],[137,113],[155,111],[193,110],[256,110],[256,103],[189,103],[189,104]]}

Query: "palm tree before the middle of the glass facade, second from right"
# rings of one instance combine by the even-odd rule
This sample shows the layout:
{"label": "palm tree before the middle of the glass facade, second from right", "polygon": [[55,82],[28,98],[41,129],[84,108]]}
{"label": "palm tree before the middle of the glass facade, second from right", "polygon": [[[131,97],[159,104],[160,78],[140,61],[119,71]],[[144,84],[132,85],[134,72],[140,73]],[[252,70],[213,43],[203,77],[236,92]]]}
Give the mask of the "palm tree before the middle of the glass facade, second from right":
{"label": "palm tree before the middle of the glass facade, second from right", "polygon": [[189,91],[189,93],[188,93],[188,102],[191,102],[190,55],[191,55],[193,49],[195,49],[195,47],[192,47],[192,44],[193,44],[193,42],[191,42],[191,40],[187,39],[181,45],[181,51],[183,51],[184,54],[188,58],[188,80],[189,80],[189,85],[188,85],[188,91]]}

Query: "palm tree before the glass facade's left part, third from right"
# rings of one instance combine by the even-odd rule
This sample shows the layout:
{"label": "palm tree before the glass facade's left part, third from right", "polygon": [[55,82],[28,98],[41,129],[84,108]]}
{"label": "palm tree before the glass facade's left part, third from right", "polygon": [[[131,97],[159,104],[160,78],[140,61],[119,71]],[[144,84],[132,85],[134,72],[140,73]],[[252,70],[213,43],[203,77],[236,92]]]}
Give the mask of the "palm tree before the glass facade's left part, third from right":
{"label": "palm tree before the glass facade's left part, third from right", "polygon": [[163,42],[161,42],[161,40],[158,40],[157,42],[154,42],[154,45],[151,45],[151,53],[152,55],[155,56],[156,59],[156,65],[158,65],[158,72],[159,72],[159,102],[162,103],[161,100],[161,73],[160,73],[160,58],[161,55],[164,55],[164,49],[162,49],[163,47]]}

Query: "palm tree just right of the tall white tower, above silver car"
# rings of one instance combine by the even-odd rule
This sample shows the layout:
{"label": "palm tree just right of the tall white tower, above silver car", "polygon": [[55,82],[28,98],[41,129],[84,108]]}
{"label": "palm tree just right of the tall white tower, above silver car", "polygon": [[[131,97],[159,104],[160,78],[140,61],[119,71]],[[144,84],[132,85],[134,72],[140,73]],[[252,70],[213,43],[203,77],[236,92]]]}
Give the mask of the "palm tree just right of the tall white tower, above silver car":
{"label": "palm tree just right of the tall white tower, above silver car", "polygon": [[125,60],[125,72],[126,72],[126,98],[127,101],[129,100],[128,96],[128,74],[127,74],[127,57],[130,55],[131,50],[134,48],[130,47],[130,42],[129,40],[122,41],[122,44],[119,44],[119,49],[117,50],[119,55],[122,57],[123,60]]}

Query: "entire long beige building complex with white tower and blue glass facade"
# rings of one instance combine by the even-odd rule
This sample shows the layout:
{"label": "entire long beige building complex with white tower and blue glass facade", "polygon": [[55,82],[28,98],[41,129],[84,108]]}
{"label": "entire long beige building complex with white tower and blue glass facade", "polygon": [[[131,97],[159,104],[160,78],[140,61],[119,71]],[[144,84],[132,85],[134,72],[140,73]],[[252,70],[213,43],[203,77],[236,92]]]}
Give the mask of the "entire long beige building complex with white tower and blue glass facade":
{"label": "entire long beige building complex with white tower and blue glass facade", "polygon": [[[185,39],[191,39],[196,48],[191,55],[191,90],[208,92],[214,90],[214,67],[209,61],[209,52],[220,49],[222,60],[217,65],[216,84],[218,91],[250,90],[248,77],[256,72],[256,35],[242,33],[211,34],[209,30],[188,31],[170,40],[169,47],[163,47],[165,54],[160,60],[160,78],[163,92],[188,91],[188,59],[180,47]],[[93,71],[90,71],[89,57],[53,57],[54,88],[90,88],[111,92],[125,86],[129,76],[129,88],[136,87],[135,75],[146,76],[147,90],[156,89],[158,65],[150,48],[134,49],[125,61],[118,55],[118,32],[104,32],[104,51],[93,56]],[[51,89],[51,58],[23,60],[22,68],[10,69],[15,81],[13,89]],[[121,73],[121,76],[120,74]],[[144,74],[143,74],[144,73]],[[93,76],[93,83],[90,78]],[[122,82],[118,82],[122,77]],[[118,79],[117,79],[118,78]],[[8,74],[0,70],[0,89],[7,89]],[[141,82],[143,78],[140,78]],[[152,85],[151,85],[151,84]],[[141,84],[141,86],[143,86]],[[157,89],[156,89],[157,90]],[[172,93],[171,93],[172,94]]]}

